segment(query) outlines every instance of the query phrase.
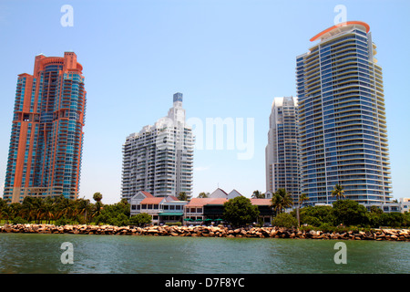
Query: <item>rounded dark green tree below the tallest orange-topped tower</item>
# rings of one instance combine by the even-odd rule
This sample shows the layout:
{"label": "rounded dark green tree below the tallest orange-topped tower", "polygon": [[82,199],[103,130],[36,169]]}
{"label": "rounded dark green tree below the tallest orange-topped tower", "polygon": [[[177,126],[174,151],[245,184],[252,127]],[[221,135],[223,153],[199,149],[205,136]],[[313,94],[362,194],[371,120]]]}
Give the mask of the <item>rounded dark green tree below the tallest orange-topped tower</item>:
{"label": "rounded dark green tree below the tallest orange-topped tower", "polygon": [[338,200],[333,203],[333,214],[336,224],[367,225],[368,216],[364,205],[352,200]]}

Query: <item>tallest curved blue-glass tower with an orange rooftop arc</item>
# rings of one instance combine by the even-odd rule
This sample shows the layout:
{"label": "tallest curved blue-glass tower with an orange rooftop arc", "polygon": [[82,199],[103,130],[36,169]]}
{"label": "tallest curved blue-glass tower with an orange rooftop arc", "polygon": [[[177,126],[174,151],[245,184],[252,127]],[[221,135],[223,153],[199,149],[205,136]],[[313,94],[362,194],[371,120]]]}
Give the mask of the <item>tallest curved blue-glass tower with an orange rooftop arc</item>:
{"label": "tallest curved blue-glass tower with an orange rooftop arc", "polygon": [[369,30],[360,21],[332,26],[297,57],[301,193],[309,203],[333,202],[336,183],[359,203],[392,197],[382,68]]}

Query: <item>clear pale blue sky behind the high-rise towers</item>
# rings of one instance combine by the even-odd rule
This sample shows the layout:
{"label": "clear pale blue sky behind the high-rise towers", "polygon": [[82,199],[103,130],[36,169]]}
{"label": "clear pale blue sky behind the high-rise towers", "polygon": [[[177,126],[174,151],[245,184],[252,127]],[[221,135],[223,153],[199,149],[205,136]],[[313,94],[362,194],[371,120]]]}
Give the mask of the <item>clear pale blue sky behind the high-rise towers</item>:
{"label": "clear pale blue sky behind the high-rise towers", "polygon": [[[64,5],[72,7],[72,18]],[[244,141],[253,135],[247,144],[253,151],[245,159],[239,155],[241,139],[233,149],[227,143],[221,150],[216,144],[197,147],[193,197],[218,187],[246,197],[265,192],[272,100],[296,96],[295,58],[313,47],[312,36],[333,26],[336,5],[344,5],[348,21],[370,26],[384,74],[393,195],[408,197],[407,0],[2,0],[0,191],[17,75],[33,74],[40,53],[62,57],[74,51],[87,90],[79,197],[92,199],[99,192],[103,203],[120,200],[123,143],[166,116],[176,92],[183,93],[187,118],[202,121],[204,132],[207,119],[220,118],[233,121],[235,139],[237,129]]]}

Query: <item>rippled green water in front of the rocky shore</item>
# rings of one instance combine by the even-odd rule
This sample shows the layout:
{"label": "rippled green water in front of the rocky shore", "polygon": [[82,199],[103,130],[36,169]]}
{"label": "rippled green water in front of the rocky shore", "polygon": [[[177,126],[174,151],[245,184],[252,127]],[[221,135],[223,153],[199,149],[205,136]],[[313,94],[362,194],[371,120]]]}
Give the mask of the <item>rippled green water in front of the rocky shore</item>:
{"label": "rippled green water in front of the rocky shore", "polygon": [[[63,264],[64,242],[73,264]],[[281,274],[410,272],[410,243],[128,235],[0,234],[0,273]]]}

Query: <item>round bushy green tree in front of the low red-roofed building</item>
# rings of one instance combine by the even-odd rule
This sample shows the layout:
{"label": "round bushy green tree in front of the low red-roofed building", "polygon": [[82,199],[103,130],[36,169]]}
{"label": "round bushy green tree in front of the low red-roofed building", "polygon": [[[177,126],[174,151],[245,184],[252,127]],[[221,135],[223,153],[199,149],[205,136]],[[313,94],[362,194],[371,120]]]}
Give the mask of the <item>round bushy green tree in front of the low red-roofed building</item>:
{"label": "round bushy green tree in front of the low red-roofed building", "polygon": [[243,196],[235,197],[223,204],[223,218],[233,226],[242,226],[257,221],[258,206],[252,205],[251,200]]}

